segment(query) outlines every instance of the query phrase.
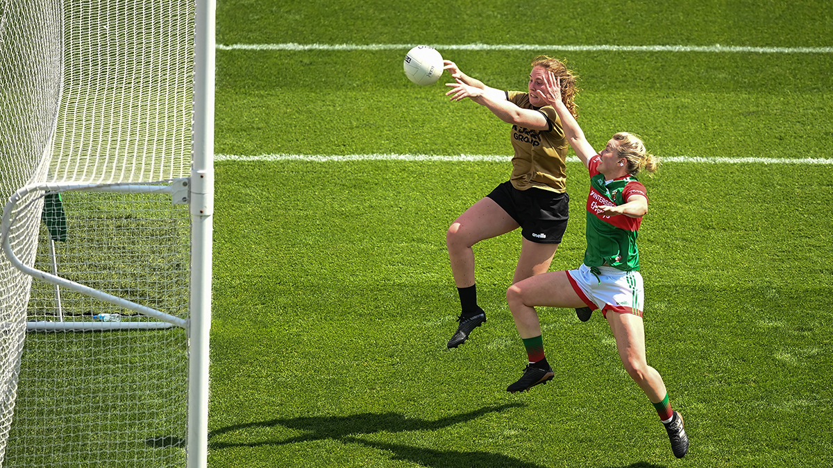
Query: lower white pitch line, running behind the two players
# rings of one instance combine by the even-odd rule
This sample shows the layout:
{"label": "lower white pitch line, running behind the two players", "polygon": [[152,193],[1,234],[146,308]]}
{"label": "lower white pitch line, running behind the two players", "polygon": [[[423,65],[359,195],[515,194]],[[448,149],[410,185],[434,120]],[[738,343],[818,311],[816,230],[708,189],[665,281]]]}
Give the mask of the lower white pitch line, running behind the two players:
{"label": "lower white pitch line, running behind the two players", "polygon": [[[308,162],[351,162],[351,161],[436,161],[436,162],[508,162],[511,157],[488,154],[427,155],[427,154],[262,154],[241,156],[217,154],[214,161],[308,161]],[[575,156],[567,157],[568,162],[578,162]],[[833,165],[833,159],[795,157],[660,157],[661,162],[691,162],[696,164],[801,164]]]}

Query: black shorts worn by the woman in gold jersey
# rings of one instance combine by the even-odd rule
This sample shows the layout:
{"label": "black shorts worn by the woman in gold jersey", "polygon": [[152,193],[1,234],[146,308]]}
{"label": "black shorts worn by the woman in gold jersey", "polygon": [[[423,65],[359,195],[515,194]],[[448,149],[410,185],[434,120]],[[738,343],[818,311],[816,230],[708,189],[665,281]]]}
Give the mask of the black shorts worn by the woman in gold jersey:
{"label": "black shorts worn by the woman in gold jersey", "polygon": [[521,225],[521,235],[539,244],[560,244],[570,218],[570,196],[531,187],[518,190],[503,182],[486,197]]}

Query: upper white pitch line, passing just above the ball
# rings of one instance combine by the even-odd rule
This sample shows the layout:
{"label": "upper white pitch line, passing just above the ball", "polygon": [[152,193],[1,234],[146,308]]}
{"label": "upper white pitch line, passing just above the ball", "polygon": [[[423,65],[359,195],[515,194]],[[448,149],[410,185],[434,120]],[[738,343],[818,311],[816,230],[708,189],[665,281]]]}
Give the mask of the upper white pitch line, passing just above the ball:
{"label": "upper white pitch line, passing just above the ball", "polygon": [[[256,51],[377,51],[408,50],[419,44],[217,44],[217,50],[256,50]],[[428,44],[439,51],[475,50],[475,51],[564,51],[564,52],[754,52],[754,53],[833,53],[833,47],[746,47],[746,46],[568,46],[535,44]]]}

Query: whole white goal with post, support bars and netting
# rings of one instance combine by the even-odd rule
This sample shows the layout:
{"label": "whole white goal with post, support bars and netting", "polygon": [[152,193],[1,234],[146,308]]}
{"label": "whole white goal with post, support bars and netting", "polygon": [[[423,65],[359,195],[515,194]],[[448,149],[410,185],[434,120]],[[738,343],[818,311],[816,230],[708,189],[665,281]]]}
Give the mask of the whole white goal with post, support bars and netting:
{"label": "whole white goal with post, support bars and netting", "polygon": [[0,0],[0,466],[206,466],[214,9]]}

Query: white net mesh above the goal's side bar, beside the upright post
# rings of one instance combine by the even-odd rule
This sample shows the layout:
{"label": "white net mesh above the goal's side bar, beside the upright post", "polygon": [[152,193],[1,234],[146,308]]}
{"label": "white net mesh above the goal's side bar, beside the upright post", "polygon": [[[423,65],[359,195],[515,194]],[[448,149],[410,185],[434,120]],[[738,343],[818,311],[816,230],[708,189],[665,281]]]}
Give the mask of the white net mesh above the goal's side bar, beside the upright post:
{"label": "white net mesh above the goal's side bar, beside the upright post", "polygon": [[73,1],[64,10],[67,60],[50,180],[186,177],[193,2]]}

